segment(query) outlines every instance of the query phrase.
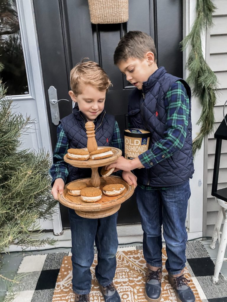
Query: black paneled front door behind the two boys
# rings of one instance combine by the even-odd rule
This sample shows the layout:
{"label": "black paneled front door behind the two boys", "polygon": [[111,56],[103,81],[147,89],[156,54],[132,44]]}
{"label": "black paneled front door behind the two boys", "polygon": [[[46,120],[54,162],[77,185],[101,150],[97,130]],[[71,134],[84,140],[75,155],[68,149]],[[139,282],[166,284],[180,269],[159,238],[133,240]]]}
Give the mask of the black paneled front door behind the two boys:
{"label": "black paneled front door behind the two boys", "polygon": [[[115,115],[120,130],[126,128],[128,95],[134,88],[113,64],[113,53],[120,38],[130,30],[150,34],[158,54],[158,66],[175,76],[183,75],[179,42],[183,36],[181,0],[129,0],[129,20],[121,24],[91,24],[86,0],[34,0],[35,19],[47,100],[52,147],[56,129],[51,122],[48,88],[57,89],[58,99],[68,99],[69,74],[76,63],[88,57],[107,72],[113,87],[107,93],[105,109]],[[71,113],[72,103],[60,101],[60,117]],[[61,207],[63,227],[68,227],[67,209]],[[135,196],[119,211],[119,224],[139,223]]]}

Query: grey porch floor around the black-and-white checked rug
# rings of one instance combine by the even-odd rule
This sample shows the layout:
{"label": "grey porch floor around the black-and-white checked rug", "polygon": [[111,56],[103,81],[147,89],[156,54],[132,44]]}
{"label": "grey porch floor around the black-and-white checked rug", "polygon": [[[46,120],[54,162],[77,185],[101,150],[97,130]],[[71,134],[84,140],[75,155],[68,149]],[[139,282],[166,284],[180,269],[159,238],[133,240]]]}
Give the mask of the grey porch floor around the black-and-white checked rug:
{"label": "grey porch floor around the black-and-white checked rug", "polygon": [[[209,253],[211,259],[215,261],[217,253],[218,253],[218,244],[216,244],[215,249],[210,249],[211,240],[201,240],[201,243],[205,246],[207,252]],[[127,246],[127,244],[126,244]],[[0,274],[6,278],[14,278],[18,267],[21,263],[21,260],[28,255],[37,255],[37,254],[46,254],[46,253],[58,253],[58,252],[70,252],[71,248],[54,248],[47,250],[36,250],[36,251],[28,251],[28,252],[11,252],[8,254],[1,254],[3,258],[2,261],[2,269],[0,270]],[[227,279],[227,249],[225,251],[225,258],[222,265],[221,273]],[[3,302],[5,297],[5,285],[0,282],[0,302]]]}

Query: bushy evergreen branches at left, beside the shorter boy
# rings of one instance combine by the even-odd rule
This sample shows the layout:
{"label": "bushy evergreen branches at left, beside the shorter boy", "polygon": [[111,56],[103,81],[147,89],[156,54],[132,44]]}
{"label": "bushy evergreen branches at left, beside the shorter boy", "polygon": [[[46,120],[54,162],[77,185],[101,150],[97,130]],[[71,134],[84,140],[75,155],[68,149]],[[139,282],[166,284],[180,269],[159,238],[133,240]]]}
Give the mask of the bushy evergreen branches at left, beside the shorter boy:
{"label": "bushy evergreen branches at left, beside the shorter boy", "polygon": [[52,245],[54,239],[37,238],[42,234],[38,220],[50,218],[58,203],[51,195],[51,159],[43,149],[18,149],[31,119],[12,113],[6,91],[0,83],[0,251],[10,244]]}

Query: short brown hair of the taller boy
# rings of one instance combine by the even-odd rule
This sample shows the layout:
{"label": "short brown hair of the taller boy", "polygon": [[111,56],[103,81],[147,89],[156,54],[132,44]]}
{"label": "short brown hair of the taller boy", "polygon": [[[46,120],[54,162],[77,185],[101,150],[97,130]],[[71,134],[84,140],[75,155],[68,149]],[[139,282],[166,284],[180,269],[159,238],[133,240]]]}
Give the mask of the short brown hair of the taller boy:
{"label": "short brown hair of the taller boy", "polygon": [[142,31],[129,31],[121,38],[115,49],[113,60],[117,65],[121,60],[129,58],[143,59],[144,55],[151,51],[154,54],[154,61],[157,62],[157,53],[154,40]]}

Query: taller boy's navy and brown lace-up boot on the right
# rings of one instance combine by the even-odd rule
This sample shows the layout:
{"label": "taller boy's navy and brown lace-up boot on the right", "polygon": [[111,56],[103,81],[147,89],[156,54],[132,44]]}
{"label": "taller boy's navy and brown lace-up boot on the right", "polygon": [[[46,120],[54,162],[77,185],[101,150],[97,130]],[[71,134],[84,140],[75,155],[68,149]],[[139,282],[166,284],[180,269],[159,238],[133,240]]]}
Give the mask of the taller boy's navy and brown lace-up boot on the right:
{"label": "taller boy's navy and brown lace-up boot on the right", "polygon": [[196,298],[193,291],[191,290],[187,280],[183,275],[178,277],[168,276],[169,283],[173,286],[178,302],[195,302]]}

